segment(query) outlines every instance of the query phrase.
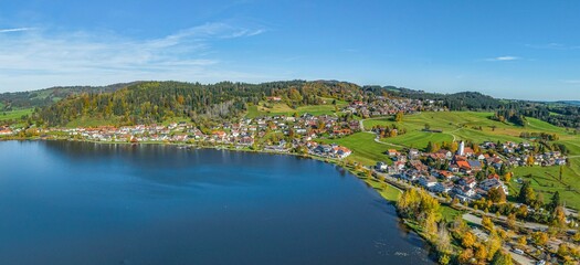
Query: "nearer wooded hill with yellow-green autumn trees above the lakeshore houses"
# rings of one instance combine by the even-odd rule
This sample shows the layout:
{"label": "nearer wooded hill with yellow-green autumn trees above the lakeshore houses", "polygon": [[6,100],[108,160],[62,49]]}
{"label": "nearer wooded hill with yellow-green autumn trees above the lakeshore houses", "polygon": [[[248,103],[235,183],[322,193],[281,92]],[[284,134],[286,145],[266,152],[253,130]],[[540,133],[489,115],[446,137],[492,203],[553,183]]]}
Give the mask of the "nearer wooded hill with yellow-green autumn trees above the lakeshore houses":
{"label": "nearer wooded hill with yellow-green autumn trees above the lakeshore houses", "polygon": [[73,95],[38,109],[34,116],[48,126],[63,126],[77,118],[107,119],[123,125],[161,123],[172,117],[204,123],[240,117],[247,104],[257,104],[271,96],[298,107],[320,104],[320,98],[352,100],[360,98],[360,93],[355,84],[334,81],[213,85],[144,82],[113,93]]}

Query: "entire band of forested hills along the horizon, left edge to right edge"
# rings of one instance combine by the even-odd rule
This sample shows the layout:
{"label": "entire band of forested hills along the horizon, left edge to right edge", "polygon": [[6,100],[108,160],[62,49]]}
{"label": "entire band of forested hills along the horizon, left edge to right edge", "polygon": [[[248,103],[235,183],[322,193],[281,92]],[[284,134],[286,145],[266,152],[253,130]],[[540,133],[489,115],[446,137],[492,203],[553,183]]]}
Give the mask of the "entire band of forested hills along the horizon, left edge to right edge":
{"label": "entire band of forested hills along the horizon, left edge to right edge", "polygon": [[[59,100],[62,97],[64,98]],[[500,100],[477,92],[439,94],[394,86],[361,87],[338,81],[262,84],[221,82],[210,85],[136,82],[104,87],[53,87],[0,95],[4,107],[40,106],[33,114],[33,120],[43,126],[64,126],[77,119],[114,125],[156,124],[176,117],[204,124],[239,118],[247,113],[249,106],[261,102],[280,100],[284,106],[297,109],[300,106],[324,104],[326,99],[371,103],[382,100],[381,98],[433,100],[435,105],[449,110],[494,112],[492,118],[510,120],[520,126],[526,126],[526,117],[535,117],[557,126],[580,127],[580,107],[573,105]]]}

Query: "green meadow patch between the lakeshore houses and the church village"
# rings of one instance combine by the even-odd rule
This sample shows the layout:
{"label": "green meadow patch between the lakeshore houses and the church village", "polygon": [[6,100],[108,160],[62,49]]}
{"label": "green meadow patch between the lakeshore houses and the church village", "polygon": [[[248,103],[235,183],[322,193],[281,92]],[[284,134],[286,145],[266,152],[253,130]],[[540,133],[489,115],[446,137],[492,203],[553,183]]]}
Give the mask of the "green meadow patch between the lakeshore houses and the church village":
{"label": "green meadow patch between the lakeshore houses and the church village", "polygon": [[389,157],[384,152],[392,149],[392,147],[376,142],[372,134],[357,132],[338,139],[323,139],[320,141],[349,148],[352,150],[352,155],[347,159],[361,162],[365,166],[373,166],[378,161],[390,162]]}

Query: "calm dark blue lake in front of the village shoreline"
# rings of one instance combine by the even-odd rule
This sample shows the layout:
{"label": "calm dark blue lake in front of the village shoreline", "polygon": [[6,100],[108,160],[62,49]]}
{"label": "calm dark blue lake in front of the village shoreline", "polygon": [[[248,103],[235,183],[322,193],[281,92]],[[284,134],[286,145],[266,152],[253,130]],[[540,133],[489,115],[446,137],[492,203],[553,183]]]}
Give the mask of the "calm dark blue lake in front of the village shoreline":
{"label": "calm dark blue lake in front of the village shoreline", "polygon": [[0,264],[433,264],[426,248],[317,160],[0,142]]}

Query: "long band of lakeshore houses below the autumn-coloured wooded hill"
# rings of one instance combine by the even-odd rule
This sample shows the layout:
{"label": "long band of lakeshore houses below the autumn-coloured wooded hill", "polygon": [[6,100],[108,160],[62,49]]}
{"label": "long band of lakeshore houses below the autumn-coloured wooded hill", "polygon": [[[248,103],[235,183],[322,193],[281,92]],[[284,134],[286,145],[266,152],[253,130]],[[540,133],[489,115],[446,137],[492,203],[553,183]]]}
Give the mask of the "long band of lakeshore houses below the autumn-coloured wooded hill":
{"label": "long band of lakeshore houses below the autumn-coloured wooded hill", "polygon": [[[73,139],[106,142],[173,142],[228,145],[236,148],[256,147],[267,151],[289,152],[304,149],[305,153],[342,159],[351,153],[346,147],[314,141],[320,137],[338,137],[359,131],[356,120],[340,120],[336,116],[273,116],[242,118],[238,123],[223,123],[213,128],[200,129],[189,123],[169,125],[99,126],[93,128],[49,128],[41,135],[60,132]],[[276,137],[271,137],[276,135]],[[285,137],[277,137],[285,136]],[[288,137],[291,141],[286,141]],[[260,140],[259,140],[260,139]]]}

